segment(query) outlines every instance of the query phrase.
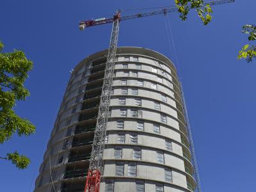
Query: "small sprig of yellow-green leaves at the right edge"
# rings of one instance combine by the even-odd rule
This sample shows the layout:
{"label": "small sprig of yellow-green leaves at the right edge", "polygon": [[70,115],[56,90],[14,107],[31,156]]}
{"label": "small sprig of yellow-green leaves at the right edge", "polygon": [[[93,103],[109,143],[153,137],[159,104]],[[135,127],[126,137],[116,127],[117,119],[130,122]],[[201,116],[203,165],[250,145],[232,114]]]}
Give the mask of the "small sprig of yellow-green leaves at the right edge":
{"label": "small sprig of yellow-green leaves at the right edge", "polygon": [[[255,25],[245,25],[243,26],[243,33],[248,34],[248,40],[254,41],[256,40],[256,26]],[[255,45],[249,45],[246,44],[243,46],[241,51],[239,51],[239,54],[237,56],[238,59],[245,59],[248,63],[253,60],[253,58],[256,58],[256,46]]]}

